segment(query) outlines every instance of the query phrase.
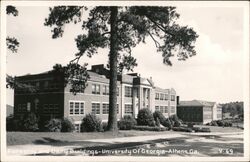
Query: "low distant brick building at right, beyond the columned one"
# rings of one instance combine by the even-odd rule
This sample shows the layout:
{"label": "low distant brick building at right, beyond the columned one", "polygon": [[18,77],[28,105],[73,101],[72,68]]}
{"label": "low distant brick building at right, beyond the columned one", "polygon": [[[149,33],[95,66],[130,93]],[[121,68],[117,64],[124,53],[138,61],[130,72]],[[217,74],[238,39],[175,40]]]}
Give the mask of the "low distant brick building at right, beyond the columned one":
{"label": "low distant brick building at right, beyond the columned one", "polygon": [[177,103],[177,116],[183,122],[206,124],[222,119],[222,106],[201,100],[180,101]]}

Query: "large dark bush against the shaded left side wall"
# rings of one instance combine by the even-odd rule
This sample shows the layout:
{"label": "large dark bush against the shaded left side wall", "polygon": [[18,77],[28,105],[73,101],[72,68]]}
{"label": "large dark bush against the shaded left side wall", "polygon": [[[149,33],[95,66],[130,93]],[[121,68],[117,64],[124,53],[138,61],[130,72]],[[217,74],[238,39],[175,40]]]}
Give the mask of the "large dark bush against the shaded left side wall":
{"label": "large dark bush against the shaded left side wall", "polygon": [[35,132],[38,130],[38,118],[34,113],[25,114],[21,121],[22,131]]}

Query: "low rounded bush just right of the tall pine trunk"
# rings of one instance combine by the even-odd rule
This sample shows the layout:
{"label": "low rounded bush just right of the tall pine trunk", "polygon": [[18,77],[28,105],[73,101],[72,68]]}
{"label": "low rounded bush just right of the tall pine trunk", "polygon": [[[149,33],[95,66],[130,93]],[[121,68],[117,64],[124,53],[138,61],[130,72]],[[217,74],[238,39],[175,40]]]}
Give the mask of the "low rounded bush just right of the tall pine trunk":
{"label": "low rounded bush just right of the tall pine trunk", "polygon": [[131,115],[125,115],[119,122],[118,128],[120,130],[130,130],[136,125],[136,120]]}

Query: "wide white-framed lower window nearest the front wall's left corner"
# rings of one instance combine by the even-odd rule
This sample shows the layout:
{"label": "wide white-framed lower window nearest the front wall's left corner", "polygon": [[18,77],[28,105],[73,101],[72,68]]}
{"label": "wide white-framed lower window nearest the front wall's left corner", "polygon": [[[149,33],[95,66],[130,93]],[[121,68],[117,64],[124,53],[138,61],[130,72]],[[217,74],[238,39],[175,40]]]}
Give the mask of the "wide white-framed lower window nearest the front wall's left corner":
{"label": "wide white-framed lower window nearest the front wall's left corner", "polygon": [[[55,105],[55,107],[56,106],[58,107],[58,104]],[[84,114],[84,102],[71,101],[69,103],[69,114],[70,115],[81,115],[81,114]]]}

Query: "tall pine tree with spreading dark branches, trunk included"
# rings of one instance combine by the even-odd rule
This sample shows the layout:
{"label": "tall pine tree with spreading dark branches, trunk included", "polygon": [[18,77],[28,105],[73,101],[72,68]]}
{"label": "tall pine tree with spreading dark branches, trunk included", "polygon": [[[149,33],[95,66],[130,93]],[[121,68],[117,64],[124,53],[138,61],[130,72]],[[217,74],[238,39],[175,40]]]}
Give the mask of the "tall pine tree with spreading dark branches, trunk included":
{"label": "tall pine tree with spreading dark branches, trunk included", "polygon": [[[71,22],[82,22],[83,34],[76,37],[79,50],[71,61],[78,64],[86,54],[91,57],[98,48],[110,48],[108,67],[110,68],[110,96],[108,130],[117,130],[116,86],[117,75],[137,66],[132,56],[132,48],[146,43],[152,38],[157,52],[162,53],[163,63],[172,65],[171,57],[186,60],[196,55],[194,43],[198,35],[188,26],[176,23],[179,14],[175,7],[156,6],[57,6],[50,8],[45,26],[52,27],[52,38],[63,35],[64,26]],[[83,12],[88,12],[87,20],[82,20]]]}

